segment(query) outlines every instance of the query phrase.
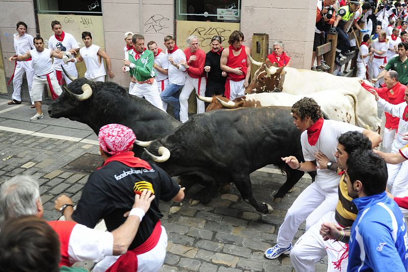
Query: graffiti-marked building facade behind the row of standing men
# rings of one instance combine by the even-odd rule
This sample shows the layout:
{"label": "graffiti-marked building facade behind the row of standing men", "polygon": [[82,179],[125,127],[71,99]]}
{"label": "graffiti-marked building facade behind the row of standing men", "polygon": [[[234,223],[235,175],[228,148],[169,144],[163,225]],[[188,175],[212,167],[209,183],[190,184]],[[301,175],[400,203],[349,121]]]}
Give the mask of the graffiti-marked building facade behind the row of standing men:
{"label": "graffiti-marked building facade behind the row of standing men", "polygon": [[[13,34],[16,22],[28,24],[27,33],[39,33],[45,44],[54,33],[51,21],[59,20],[65,32],[71,33],[82,47],[81,33],[89,31],[93,43],[105,48],[112,59],[115,77],[107,80],[129,86],[129,75],[123,66],[124,33],[141,33],[147,42],[156,41],[165,49],[163,38],[173,35],[176,44],[185,48],[189,35],[199,37],[203,50],[210,50],[214,35],[225,39],[234,30],[245,36],[251,47],[253,33],[269,34],[269,47],[276,40],[285,43],[285,51],[295,68],[310,69],[316,17],[316,0],[0,0],[0,97],[11,96],[13,74]],[[223,46],[227,46],[227,41]],[[83,63],[77,64],[80,76]],[[22,87],[23,101],[29,101],[27,83]]]}

